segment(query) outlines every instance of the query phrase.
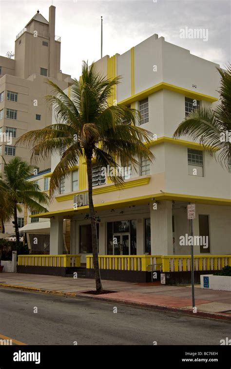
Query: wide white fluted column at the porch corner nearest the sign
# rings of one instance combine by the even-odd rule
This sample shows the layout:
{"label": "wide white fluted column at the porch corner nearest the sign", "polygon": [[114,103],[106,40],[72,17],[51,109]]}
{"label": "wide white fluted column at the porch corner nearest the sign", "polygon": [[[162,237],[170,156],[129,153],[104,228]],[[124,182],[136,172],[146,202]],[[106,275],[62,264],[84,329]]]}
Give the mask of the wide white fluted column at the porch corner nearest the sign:
{"label": "wide white fluted column at the porch corner nearest the sign", "polygon": [[152,255],[172,255],[172,201],[161,201],[156,210],[153,203],[150,203]]}

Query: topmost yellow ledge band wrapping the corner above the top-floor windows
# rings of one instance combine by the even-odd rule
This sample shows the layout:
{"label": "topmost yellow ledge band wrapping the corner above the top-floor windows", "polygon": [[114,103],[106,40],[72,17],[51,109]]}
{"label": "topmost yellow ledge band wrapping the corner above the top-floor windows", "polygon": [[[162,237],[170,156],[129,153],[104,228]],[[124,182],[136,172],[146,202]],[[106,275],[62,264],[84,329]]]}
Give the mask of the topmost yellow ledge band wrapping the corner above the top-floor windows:
{"label": "topmost yellow ledge band wrapping the corner above the top-floor windows", "polygon": [[195,92],[195,91],[183,88],[183,87],[175,86],[167,82],[160,82],[152,87],[147,88],[146,90],[140,91],[133,96],[127,97],[124,100],[119,101],[118,104],[124,104],[124,105],[131,104],[134,101],[143,100],[149,95],[152,95],[155,92],[160,91],[160,90],[169,90],[169,91],[177,92],[178,94],[182,94],[186,97],[196,98],[198,100],[205,100],[205,101],[210,101],[210,102],[218,101],[217,97],[201,94],[199,92]]}

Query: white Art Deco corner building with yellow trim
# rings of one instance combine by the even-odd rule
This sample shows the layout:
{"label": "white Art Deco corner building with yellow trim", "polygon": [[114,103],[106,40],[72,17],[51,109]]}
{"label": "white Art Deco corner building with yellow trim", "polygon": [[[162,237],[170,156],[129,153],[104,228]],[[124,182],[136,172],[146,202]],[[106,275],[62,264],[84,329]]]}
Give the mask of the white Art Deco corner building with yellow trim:
{"label": "white Art Deco corner building with yellow trim", "polygon": [[[150,149],[153,163],[142,162],[138,174],[118,189],[95,163],[93,200],[98,222],[101,255],[187,255],[190,246],[180,237],[190,233],[187,205],[196,204],[193,230],[207,236],[208,245],[195,245],[197,255],[231,252],[231,173],[222,168],[191,138],[173,139],[178,124],[193,109],[214,107],[220,83],[217,64],[153,35],[122,55],[96,62],[102,74],[121,75],[111,104],[123,103],[140,110],[137,124],[154,134]],[[60,156],[52,158],[51,173]],[[48,176],[51,173],[47,174]],[[101,174],[101,175],[100,175]],[[44,178],[42,179],[44,180]],[[74,195],[87,193],[84,159],[60,184],[49,213],[50,254],[65,253],[63,224],[70,224],[70,254],[91,253],[88,206],[74,210]],[[116,240],[116,242],[114,242]]]}

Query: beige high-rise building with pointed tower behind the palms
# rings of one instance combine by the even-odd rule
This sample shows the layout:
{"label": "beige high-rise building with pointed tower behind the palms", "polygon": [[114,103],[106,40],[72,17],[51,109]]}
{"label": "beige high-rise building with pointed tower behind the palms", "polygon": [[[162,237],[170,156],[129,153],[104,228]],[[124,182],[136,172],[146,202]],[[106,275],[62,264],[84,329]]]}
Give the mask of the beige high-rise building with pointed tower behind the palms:
{"label": "beige high-rise building with pointed tower behind the palms", "polygon": [[[0,57],[0,172],[4,160],[7,163],[14,156],[30,161],[28,148],[15,146],[19,136],[51,124],[52,112],[44,99],[51,92],[47,78],[62,90],[71,84],[71,76],[60,70],[55,11],[50,6],[49,21],[37,11],[16,36],[15,58]],[[50,160],[39,161],[37,166],[39,172],[44,171],[50,168]],[[19,218],[20,227],[23,214]],[[6,225],[6,232],[13,232],[12,226]]]}

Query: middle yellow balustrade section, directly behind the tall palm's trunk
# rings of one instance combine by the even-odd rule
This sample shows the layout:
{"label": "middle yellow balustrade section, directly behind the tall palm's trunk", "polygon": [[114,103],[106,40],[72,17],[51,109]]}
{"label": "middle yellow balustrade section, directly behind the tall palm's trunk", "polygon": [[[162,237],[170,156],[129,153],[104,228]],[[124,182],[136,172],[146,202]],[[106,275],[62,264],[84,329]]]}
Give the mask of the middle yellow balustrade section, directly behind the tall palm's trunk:
{"label": "middle yellow balustrade section, directly behind the tall palm's trunk", "polygon": [[[159,270],[161,256],[155,255],[98,255],[100,269],[117,271],[147,271],[147,266],[153,265],[153,270]],[[93,268],[93,255],[86,255],[87,268]]]}

